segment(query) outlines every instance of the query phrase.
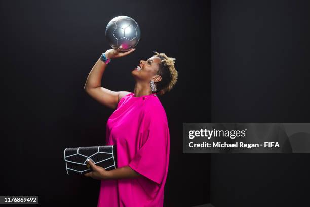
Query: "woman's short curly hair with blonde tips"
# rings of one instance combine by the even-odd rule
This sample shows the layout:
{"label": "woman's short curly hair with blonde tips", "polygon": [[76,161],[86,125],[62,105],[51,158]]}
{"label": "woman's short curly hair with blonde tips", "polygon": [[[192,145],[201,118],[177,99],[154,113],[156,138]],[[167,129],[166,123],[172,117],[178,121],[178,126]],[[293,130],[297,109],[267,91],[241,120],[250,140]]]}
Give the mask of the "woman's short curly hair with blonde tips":
{"label": "woman's short curly hair with blonde tips", "polygon": [[161,58],[161,64],[157,72],[162,77],[162,80],[156,82],[156,89],[160,95],[164,95],[169,92],[178,80],[178,71],[175,69],[175,58],[168,57],[165,53],[158,53],[154,51],[156,55],[153,57]]}

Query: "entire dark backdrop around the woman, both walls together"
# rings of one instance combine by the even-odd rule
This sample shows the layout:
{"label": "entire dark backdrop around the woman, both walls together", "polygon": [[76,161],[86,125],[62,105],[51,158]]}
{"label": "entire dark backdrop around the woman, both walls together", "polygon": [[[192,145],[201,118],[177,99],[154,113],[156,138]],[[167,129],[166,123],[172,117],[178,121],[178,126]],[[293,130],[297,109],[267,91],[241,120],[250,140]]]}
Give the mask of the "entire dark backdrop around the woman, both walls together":
{"label": "entire dark backdrop around the woman, both walls together", "polygon": [[0,4],[0,195],[96,206],[100,182],[66,175],[63,150],[105,144],[112,110],[83,86],[110,48],[107,22],[126,15],[141,40],[109,64],[103,87],[133,91],[130,72],[152,51],[177,58],[179,81],[160,97],[171,135],[165,206],[308,202],[308,154],[182,154],[181,140],[183,122],[310,122],[307,1],[212,0],[211,10],[207,1]]}

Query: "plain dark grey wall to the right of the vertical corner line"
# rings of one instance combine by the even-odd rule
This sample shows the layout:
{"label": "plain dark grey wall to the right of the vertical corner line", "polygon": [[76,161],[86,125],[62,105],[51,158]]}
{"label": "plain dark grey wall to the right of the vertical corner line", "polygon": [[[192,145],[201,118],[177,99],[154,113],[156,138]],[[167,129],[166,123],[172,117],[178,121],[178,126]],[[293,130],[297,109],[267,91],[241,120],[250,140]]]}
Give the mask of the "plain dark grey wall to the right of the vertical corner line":
{"label": "plain dark grey wall to the right of the vertical corner line", "polygon": [[[310,122],[308,1],[211,1],[212,122]],[[308,154],[212,154],[222,206],[306,206]]]}

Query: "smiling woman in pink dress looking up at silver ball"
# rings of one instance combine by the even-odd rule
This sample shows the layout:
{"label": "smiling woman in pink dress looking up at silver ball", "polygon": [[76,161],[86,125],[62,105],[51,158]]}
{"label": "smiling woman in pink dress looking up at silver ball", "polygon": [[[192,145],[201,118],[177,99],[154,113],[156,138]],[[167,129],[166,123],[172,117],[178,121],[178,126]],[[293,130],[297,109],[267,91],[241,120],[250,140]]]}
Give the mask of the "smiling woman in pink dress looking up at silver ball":
{"label": "smiling woman in pink dress looking up at silver ball", "polygon": [[135,50],[121,52],[122,46],[102,53],[88,75],[84,89],[103,105],[115,109],[106,125],[106,145],[115,145],[117,168],[105,170],[88,163],[87,177],[101,180],[98,207],[163,206],[170,136],[165,110],[157,97],[177,82],[175,58],[155,52],[131,74],[134,92],[111,91],[101,87],[102,74],[111,59]]}

